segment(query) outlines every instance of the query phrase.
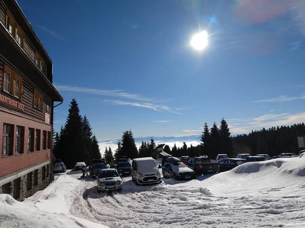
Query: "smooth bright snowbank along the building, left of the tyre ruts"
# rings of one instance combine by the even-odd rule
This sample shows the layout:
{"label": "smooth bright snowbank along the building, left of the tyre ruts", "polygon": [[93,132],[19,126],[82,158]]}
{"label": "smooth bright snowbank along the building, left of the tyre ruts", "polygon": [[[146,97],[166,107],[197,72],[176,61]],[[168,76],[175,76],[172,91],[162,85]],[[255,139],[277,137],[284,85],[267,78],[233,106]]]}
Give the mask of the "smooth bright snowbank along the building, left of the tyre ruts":
{"label": "smooth bright snowbank along the building, left of the tyre ruts", "polygon": [[60,175],[44,191],[23,202],[0,194],[0,227],[107,227],[70,214],[79,183],[73,177]]}

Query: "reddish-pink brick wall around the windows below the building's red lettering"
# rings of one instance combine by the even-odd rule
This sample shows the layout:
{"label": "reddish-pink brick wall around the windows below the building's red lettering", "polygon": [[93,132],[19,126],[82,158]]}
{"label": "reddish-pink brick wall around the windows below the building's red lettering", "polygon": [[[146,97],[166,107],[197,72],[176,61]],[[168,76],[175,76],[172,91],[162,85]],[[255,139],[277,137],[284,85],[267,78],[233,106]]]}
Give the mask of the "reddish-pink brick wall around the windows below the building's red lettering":
{"label": "reddish-pink brick wall around the windows below the building's red lettering", "polygon": [[[1,107],[0,107],[1,108]],[[51,125],[42,124],[33,120],[29,120],[26,118],[18,117],[12,115],[10,113],[4,112],[0,109],[0,150],[2,153],[2,145],[3,145],[3,125],[12,124],[14,125],[14,129],[16,126],[24,127],[24,140],[23,140],[23,154],[15,155],[15,151],[13,150],[13,156],[9,157],[0,157],[0,180],[2,177],[5,177],[8,174],[17,172],[18,170],[22,170],[24,168],[33,166],[35,164],[41,163],[43,161],[49,160],[51,158],[50,149],[42,149],[42,132],[43,131],[52,131]],[[27,136],[28,136],[28,128],[40,129],[40,150],[35,151],[33,153],[27,153]],[[15,147],[15,134],[12,133],[12,137],[14,138],[14,143],[12,146]]]}

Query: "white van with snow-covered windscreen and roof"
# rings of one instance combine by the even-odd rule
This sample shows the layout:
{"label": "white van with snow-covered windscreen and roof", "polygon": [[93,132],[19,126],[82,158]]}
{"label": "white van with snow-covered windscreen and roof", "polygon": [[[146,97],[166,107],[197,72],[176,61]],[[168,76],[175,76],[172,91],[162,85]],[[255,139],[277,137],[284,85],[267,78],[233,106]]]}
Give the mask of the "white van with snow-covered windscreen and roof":
{"label": "white van with snow-covered windscreen and roof", "polygon": [[132,180],[139,184],[161,183],[161,175],[155,159],[138,158],[132,160]]}

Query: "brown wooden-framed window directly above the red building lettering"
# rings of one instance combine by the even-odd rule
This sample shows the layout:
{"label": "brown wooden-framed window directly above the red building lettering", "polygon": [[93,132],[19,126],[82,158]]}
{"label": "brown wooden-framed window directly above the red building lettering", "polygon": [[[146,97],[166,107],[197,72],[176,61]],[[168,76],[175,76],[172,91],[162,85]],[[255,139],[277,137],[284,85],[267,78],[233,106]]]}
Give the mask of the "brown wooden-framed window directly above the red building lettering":
{"label": "brown wooden-framed window directly above the red building lettering", "polygon": [[22,78],[7,65],[4,65],[3,90],[21,99]]}

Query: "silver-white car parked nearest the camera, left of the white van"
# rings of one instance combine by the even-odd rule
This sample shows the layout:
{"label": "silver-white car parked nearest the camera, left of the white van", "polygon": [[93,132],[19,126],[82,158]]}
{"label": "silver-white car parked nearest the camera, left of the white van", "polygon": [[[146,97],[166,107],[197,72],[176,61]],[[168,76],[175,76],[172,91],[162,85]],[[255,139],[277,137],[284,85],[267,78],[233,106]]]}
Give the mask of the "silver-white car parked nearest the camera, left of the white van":
{"label": "silver-white car parked nearest the camera, left of the white van", "polygon": [[122,180],[116,169],[101,169],[98,174],[98,192],[121,190]]}

